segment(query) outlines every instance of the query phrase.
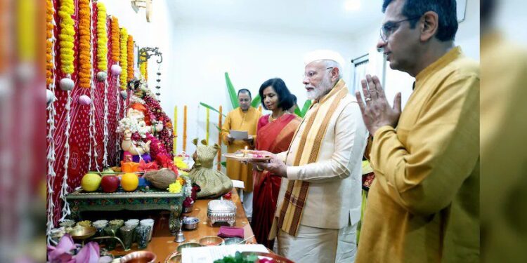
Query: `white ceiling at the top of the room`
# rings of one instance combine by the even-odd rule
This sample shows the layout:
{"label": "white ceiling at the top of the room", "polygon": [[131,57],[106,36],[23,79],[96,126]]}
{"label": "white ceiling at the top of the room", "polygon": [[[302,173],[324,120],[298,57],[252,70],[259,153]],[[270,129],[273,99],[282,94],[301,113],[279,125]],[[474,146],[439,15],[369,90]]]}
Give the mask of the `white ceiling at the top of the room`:
{"label": "white ceiling at the top of the room", "polygon": [[383,18],[380,0],[167,0],[167,5],[176,25],[302,34],[356,34]]}

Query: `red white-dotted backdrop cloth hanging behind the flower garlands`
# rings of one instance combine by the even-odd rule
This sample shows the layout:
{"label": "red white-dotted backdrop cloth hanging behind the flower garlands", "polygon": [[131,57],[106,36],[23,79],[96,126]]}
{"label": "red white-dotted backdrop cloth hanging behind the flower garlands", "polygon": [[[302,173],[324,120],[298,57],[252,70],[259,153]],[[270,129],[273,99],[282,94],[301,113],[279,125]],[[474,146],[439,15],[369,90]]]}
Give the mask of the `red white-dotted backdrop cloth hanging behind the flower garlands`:
{"label": "red white-dotted backdrop cloth hanging behind the flower garlands", "polygon": [[[55,10],[58,11],[59,7],[59,1],[54,0],[53,4],[55,5]],[[74,1],[75,5],[75,13],[72,16],[75,25],[75,36],[74,36],[74,73],[72,74],[72,80],[75,82],[75,86],[73,90],[71,91],[72,96],[72,102],[71,102],[71,109],[70,109],[70,161],[68,163],[68,169],[67,169],[67,185],[68,185],[68,192],[71,192],[76,187],[79,187],[80,181],[82,179],[82,176],[86,174],[89,168],[89,148],[91,144],[92,148],[92,156],[91,156],[91,163],[92,163],[92,170],[95,169],[95,163],[98,163],[99,168],[103,168],[103,154],[104,154],[104,83],[96,81],[94,78],[96,88],[94,90],[94,95],[91,97],[90,89],[88,88],[80,88],[78,85],[78,75],[77,70],[79,69],[79,24],[78,24],[78,13],[79,13],[79,6],[77,1]],[[93,74],[97,74],[99,72],[98,69],[96,69],[96,55],[97,55],[97,33],[96,33],[96,23],[97,23],[97,7],[96,4],[93,3],[93,15],[91,17],[91,22],[93,25],[93,38],[92,38],[92,46],[93,46]],[[56,39],[58,39],[58,34],[60,33],[60,18],[57,15],[55,15],[55,19],[57,22],[57,27],[55,29],[55,36]],[[110,27],[110,19],[107,19],[107,30],[108,30],[108,165],[109,166],[115,166],[116,165],[116,147],[115,147],[115,141],[119,140],[117,133],[115,130],[117,129],[117,121],[122,118],[123,116],[123,108],[128,103],[123,102],[119,98],[120,104],[120,111],[117,114],[117,95],[120,90],[117,90],[117,81],[119,81],[118,76],[112,76],[110,67],[111,65],[116,64],[116,61],[113,61],[110,53],[112,50],[111,46],[111,27]],[[59,45],[58,41],[55,45],[55,53],[56,53],[56,92],[55,95],[57,97],[57,100],[54,102],[55,108],[56,108],[56,116],[55,116],[55,126],[56,130],[53,134],[53,140],[55,141],[55,155],[56,155],[56,161],[54,163],[54,170],[56,172],[56,178],[53,183],[53,203],[55,204],[55,209],[53,210],[54,215],[54,224],[57,224],[58,220],[61,216],[61,210],[63,208],[63,201],[60,199],[60,188],[63,182],[64,177],[64,164],[65,164],[65,143],[66,143],[66,116],[67,112],[65,109],[65,105],[67,102],[67,92],[60,90],[59,88],[59,81],[60,79],[63,79],[65,77],[65,74],[63,74],[60,71],[60,52],[59,52]],[[95,160],[94,154],[93,154],[93,139],[89,137],[89,124],[90,124],[90,106],[89,105],[81,105],[79,104],[78,100],[81,95],[87,95],[91,97],[91,100],[93,101],[93,104],[95,106],[95,140],[97,142],[97,147],[95,147],[95,151],[97,151],[98,157]],[[49,128],[49,126],[47,127]],[[47,178],[49,179],[49,178]]]}

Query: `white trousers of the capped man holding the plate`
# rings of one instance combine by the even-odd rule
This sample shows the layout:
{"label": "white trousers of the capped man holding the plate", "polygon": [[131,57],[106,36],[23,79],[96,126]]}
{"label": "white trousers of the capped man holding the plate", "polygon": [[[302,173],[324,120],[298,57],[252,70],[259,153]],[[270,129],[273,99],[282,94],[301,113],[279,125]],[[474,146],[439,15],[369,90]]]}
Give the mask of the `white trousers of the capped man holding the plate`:
{"label": "white trousers of the capped man holding the plate", "polygon": [[294,262],[355,262],[357,224],[342,229],[300,225],[297,236],[278,230],[278,255]]}

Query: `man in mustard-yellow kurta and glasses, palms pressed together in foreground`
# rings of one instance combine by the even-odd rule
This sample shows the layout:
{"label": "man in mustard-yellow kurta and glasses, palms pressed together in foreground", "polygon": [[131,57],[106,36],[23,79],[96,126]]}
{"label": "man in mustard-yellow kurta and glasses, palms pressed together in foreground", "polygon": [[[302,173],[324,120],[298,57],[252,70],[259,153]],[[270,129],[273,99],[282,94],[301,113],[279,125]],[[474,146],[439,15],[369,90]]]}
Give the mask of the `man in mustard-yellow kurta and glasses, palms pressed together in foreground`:
{"label": "man in mustard-yellow kurta and glasses, palms pressed together in foreground", "polygon": [[376,175],[356,262],[479,262],[479,64],[454,46],[455,6],[384,1],[377,48],[415,86],[402,113],[376,76],[356,94]]}

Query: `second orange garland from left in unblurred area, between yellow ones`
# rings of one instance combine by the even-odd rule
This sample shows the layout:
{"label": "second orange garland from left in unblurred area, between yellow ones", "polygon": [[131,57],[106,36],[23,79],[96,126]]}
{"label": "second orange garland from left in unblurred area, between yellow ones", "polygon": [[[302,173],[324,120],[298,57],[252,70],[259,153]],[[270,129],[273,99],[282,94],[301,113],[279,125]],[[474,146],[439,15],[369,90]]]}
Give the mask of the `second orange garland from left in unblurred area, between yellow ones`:
{"label": "second orange garland from left in unblurred area, between yellow ones", "polygon": [[91,14],[90,1],[79,0],[79,86],[91,84]]}

